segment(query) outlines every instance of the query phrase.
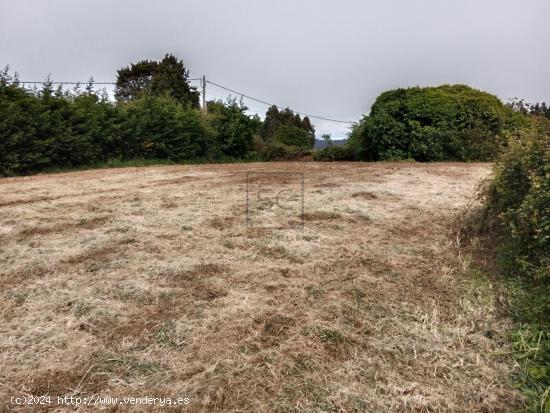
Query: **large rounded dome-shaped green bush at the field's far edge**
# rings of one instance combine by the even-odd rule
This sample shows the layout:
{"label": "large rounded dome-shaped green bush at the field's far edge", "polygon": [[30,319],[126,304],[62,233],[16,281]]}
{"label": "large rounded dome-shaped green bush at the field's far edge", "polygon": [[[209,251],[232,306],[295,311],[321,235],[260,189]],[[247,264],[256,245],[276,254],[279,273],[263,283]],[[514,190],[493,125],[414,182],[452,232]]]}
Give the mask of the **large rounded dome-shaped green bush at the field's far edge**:
{"label": "large rounded dome-shaped green bush at the field's far edge", "polygon": [[366,160],[489,160],[523,116],[488,93],[463,85],[382,93],[350,140]]}

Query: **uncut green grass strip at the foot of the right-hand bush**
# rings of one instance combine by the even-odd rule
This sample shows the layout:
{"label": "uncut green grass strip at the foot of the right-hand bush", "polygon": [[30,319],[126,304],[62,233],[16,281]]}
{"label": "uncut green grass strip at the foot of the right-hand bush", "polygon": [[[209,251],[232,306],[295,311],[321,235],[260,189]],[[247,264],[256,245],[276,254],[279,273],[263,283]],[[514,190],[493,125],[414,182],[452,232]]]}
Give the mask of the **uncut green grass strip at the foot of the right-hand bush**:
{"label": "uncut green grass strip at the foot of the right-hand bush", "polygon": [[519,411],[550,413],[549,286],[544,280],[506,272],[510,268],[503,262],[507,251],[495,234],[484,228],[484,218],[483,208],[473,208],[460,225],[465,243],[459,250],[469,262],[468,278],[487,286],[485,290],[497,298],[499,312],[514,322],[509,332],[510,351],[495,356],[513,366],[514,385],[525,396]]}

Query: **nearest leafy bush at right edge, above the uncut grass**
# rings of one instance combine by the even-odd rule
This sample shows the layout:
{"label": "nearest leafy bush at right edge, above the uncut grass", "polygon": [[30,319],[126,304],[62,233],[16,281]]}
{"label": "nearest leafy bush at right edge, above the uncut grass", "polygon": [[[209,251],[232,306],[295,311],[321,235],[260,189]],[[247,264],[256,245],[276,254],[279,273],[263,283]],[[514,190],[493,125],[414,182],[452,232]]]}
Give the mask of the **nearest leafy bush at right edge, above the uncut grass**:
{"label": "nearest leafy bush at right edge, above the uncut grass", "polygon": [[487,194],[507,272],[550,282],[550,122],[511,136]]}

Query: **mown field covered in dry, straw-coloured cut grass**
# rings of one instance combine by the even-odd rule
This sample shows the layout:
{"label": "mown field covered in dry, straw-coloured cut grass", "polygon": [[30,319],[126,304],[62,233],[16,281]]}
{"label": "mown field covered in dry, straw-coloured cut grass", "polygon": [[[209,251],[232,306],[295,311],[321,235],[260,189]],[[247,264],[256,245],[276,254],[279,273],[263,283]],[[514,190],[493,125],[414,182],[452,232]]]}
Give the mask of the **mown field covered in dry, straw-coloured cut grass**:
{"label": "mown field covered in dry, straw-coloured cut grass", "polygon": [[304,162],[0,179],[4,411],[31,394],[510,411],[520,396],[495,356],[509,322],[452,230],[489,173]]}

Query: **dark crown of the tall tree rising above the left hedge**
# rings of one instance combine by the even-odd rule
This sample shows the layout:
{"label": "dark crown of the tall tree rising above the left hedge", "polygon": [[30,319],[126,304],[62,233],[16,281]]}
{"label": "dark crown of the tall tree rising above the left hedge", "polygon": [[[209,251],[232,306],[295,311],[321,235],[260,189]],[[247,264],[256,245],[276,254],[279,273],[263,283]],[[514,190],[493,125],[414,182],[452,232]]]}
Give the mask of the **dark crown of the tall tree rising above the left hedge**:
{"label": "dark crown of the tall tree rising above the left hedge", "polygon": [[117,72],[115,97],[130,102],[144,94],[168,95],[183,106],[199,107],[199,93],[188,83],[189,71],[171,54],[157,62],[141,60]]}

